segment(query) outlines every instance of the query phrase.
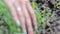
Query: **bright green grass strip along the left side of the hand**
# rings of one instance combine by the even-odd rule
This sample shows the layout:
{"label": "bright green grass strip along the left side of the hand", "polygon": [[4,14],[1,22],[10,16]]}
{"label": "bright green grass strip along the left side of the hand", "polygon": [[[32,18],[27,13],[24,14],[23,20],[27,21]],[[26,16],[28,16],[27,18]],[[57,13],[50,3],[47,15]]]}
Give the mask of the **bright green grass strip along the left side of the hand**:
{"label": "bright green grass strip along the left side of the hand", "polygon": [[[3,0],[0,0],[0,12],[4,14],[3,18],[5,19],[7,25],[9,26],[10,32],[18,34],[18,28],[14,23],[12,16],[10,14],[9,8],[4,4]],[[20,33],[19,33],[20,34]]]}

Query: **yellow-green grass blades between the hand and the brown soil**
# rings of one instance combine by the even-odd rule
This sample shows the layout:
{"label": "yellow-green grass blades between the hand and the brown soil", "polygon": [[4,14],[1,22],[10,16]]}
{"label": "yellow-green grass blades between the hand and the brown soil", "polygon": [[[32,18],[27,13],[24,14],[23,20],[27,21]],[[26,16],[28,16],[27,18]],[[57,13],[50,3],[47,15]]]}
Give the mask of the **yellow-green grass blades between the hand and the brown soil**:
{"label": "yellow-green grass blades between the hand and the brown soil", "polygon": [[38,30],[45,29],[45,25],[46,25],[45,22],[50,17],[51,11],[48,11],[48,13],[46,13],[47,12],[46,6],[43,6],[44,10],[42,11],[42,14],[41,14],[41,12],[37,6],[37,3],[34,0],[32,0],[32,8],[35,12],[36,19],[38,22]]}

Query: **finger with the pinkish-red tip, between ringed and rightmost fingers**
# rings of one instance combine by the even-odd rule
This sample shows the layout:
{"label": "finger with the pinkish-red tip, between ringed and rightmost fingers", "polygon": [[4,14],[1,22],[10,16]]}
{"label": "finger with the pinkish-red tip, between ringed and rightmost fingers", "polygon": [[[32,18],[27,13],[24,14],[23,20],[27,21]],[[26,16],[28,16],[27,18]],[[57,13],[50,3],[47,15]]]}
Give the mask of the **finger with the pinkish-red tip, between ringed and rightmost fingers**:
{"label": "finger with the pinkish-red tip, between ringed and rightmost fingers", "polygon": [[32,24],[31,24],[31,19],[30,16],[28,14],[28,11],[26,9],[25,3],[21,3],[22,5],[22,10],[25,16],[25,20],[26,20],[26,24],[27,24],[27,28],[28,28],[28,34],[33,34],[33,28],[32,28]]}

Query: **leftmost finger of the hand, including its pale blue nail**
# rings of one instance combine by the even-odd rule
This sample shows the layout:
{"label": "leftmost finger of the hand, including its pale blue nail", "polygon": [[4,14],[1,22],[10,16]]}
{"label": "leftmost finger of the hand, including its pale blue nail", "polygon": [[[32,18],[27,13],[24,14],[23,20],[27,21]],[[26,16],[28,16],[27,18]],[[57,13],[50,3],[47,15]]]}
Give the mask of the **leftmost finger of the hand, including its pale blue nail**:
{"label": "leftmost finger of the hand, including its pale blue nail", "polygon": [[[8,2],[9,1],[9,2]],[[17,26],[21,26],[20,24],[20,21],[17,17],[17,13],[16,13],[16,10],[13,6],[13,3],[11,2],[11,0],[4,0],[4,2],[6,3],[6,5],[10,8],[10,12],[11,12],[11,15],[13,16],[13,20],[16,22]]]}

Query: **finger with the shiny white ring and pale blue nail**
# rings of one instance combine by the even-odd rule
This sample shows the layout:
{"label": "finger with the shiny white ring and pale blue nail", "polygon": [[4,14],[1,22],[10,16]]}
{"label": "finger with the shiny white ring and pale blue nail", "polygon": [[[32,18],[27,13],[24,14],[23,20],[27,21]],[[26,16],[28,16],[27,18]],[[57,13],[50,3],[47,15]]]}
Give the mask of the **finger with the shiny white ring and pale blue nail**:
{"label": "finger with the shiny white ring and pale blue nail", "polygon": [[25,24],[25,18],[24,18],[24,15],[23,15],[23,12],[22,12],[22,10],[21,10],[21,6],[20,6],[19,2],[16,1],[16,2],[14,3],[14,6],[15,6],[15,8],[17,9],[18,17],[19,17],[19,19],[20,19],[20,21],[21,21],[21,24],[22,24],[22,25],[21,25],[21,27],[22,27],[22,32],[23,32],[23,34],[27,34],[26,24]]}

